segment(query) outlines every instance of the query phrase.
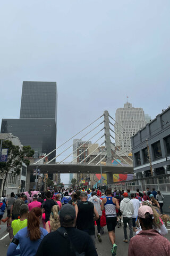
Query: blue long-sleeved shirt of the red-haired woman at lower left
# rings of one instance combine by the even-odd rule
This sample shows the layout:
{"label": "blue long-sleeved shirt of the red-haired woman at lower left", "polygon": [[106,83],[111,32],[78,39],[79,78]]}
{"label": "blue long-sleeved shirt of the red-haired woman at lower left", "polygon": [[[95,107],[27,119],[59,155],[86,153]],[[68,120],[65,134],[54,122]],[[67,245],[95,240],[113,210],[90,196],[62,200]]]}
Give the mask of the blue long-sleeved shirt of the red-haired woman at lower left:
{"label": "blue long-sleeved shirt of the red-haired woman at lower left", "polygon": [[[44,228],[41,228],[41,237],[37,241],[31,241],[28,236],[28,229],[27,227],[21,229],[16,233],[14,236],[16,239],[19,240],[20,243],[20,250],[17,252],[17,254],[21,254],[21,256],[35,256],[36,252],[38,250],[38,247],[43,240],[43,238],[48,234],[47,230]],[[14,243],[11,243],[7,250],[7,256],[16,255],[16,249],[17,245]]]}

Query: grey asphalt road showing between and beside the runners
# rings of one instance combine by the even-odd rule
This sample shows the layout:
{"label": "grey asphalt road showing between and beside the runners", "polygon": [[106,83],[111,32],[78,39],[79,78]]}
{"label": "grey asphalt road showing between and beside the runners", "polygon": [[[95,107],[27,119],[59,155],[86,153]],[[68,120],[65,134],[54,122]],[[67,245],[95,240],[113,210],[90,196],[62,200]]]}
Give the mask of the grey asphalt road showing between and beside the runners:
{"label": "grey asphalt road showing between and beside the runners", "polygon": [[[168,229],[168,235],[165,237],[170,241],[170,223],[168,223],[167,226]],[[129,230],[128,230],[129,234]],[[97,235],[97,229],[96,229],[96,235]],[[124,243],[124,235],[123,235],[123,225],[118,229],[115,230],[116,235],[116,244],[117,244],[117,256],[127,256],[128,255],[128,246],[129,243]],[[111,255],[111,243],[109,242],[108,234],[107,234],[107,228],[104,227],[104,234],[101,235],[102,242],[99,243],[98,239],[96,238],[96,247],[98,256],[106,256]],[[2,222],[1,229],[0,229],[0,254],[1,256],[6,256],[8,245],[10,244],[10,238],[8,236],[8,233],[6,231],[6,223]]]}

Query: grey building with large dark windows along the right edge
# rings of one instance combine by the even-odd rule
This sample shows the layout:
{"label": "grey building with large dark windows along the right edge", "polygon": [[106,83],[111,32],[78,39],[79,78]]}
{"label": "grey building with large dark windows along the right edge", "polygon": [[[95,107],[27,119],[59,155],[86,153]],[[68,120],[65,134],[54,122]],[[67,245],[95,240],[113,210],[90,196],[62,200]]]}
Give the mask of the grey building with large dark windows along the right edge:
{"label": "grey building with large dark windows along the right edge", "polygon": [[[170,191],[170,107],[131,138],[135,186],[160,190],[169,211]],[[167,209],[165,208],[167,207]]]}

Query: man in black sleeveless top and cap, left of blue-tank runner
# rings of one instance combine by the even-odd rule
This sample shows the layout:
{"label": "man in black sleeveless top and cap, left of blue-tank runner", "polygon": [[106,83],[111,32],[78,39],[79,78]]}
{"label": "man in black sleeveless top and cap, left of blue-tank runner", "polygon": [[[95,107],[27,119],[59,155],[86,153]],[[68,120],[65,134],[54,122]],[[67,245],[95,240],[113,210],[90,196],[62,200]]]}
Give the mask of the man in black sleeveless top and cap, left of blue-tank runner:
{"label": "man in black sleeveless top and cap, left of blue-tank runner", "polygon": [[95,245],[94,221],[99,219],[99,215],[94,204],[87,201],[86,192],[81,192],[80,199],[81,202],[75,205],[75,211],[77,214],[77,228],[87,232],[91,236],[91,239]]}

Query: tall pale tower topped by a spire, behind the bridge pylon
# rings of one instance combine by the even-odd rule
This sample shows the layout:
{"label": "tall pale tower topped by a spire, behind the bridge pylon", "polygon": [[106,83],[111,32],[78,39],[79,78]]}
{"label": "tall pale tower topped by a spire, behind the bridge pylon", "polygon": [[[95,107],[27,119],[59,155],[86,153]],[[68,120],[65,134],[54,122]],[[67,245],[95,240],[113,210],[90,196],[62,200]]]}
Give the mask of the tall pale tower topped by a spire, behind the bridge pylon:
{"label": "tall pale tower topped by a spire, behind the bridge pylon", "polygon": [[131,151],[131,137],[145,125],[145,113],[142,108],[134,108],[128,101],[124,108],[116,110],[115,145],[123,152]]}

